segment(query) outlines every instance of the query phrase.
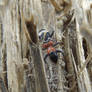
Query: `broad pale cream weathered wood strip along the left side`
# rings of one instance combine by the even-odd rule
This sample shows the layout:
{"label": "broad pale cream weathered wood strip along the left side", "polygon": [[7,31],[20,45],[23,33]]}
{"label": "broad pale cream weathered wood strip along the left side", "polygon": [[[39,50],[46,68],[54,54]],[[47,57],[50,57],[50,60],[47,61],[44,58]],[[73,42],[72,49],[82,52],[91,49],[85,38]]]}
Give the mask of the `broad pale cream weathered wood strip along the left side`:
{"label": "broad pale cream weathered wood strip along the left side", "polygon": [[8,90],[11,92],[23,92],[23,65],[20,39],[20,18],[18,1],[11,2],[4,13],[4,37],[7,53],[7,78]]}

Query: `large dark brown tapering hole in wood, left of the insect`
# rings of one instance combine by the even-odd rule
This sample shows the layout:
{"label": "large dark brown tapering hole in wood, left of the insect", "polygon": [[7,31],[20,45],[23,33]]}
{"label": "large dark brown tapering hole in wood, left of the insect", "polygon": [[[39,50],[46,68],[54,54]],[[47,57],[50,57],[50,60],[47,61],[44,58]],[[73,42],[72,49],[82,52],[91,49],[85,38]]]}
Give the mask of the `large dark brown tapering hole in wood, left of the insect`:
{"label": "large dark brown tapering hole in wood, left of the insect", "polygon": [[25,24],[32,42],[36,44],[38,42],[38,39],[37,39],[37,32],[36,32],[36,24],[34,24],[34,18],[31,17],[30,20],[26,20]]}

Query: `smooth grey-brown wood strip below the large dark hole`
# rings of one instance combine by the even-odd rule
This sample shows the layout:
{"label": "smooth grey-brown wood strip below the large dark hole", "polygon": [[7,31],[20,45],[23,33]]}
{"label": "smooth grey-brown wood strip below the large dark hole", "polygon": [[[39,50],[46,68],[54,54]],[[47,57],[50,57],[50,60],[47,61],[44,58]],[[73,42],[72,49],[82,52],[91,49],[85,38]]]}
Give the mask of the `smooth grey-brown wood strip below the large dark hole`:
{"label": "smooth grey-brown wood strip below the large dark hole", "polygon": [[[35,77],[37,78],[39,84],[37,84],[37,90],[39,92],[49,92],[47,87],[46,75],[44,72],[44,64],[42,61],[41,51],[36,47],[31,47],[34,68],[35,68]],[[35,58],[36,57],[36,58]]]}

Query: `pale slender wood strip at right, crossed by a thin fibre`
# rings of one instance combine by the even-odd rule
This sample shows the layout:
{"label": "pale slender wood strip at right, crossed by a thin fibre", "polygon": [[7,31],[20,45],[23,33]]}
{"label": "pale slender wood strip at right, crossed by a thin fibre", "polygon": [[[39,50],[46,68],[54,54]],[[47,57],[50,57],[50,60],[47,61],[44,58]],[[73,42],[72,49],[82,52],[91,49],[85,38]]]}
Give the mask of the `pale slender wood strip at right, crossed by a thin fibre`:
{"label": "pale slender wood strip at right, crossed by a thin fibre", "polygon": [[[79,66],[78,66],[78,71],[80,71],[80,67],[82,67],[83,63],[85,62],[85,57],[84,57],[84,51],[83,51],[83,47],[82,47],[82,38],[81,35],[79,34],[79,24],[76,21],[76,32],[77,32],[77,57],[78,57],[78,61],[79,61]],[[91,92],[91,85],[90,85],[90,80],[89,80],[89,75],[87,72],[87,69],[85,67],[83,73],[79,76],[79,80],[83,81],[82,83],[80,83],[79,86],[79,90],[80,92],[82,92],[84,90],[84,92]],[[81,85],[82,84],[82,85]]]}

